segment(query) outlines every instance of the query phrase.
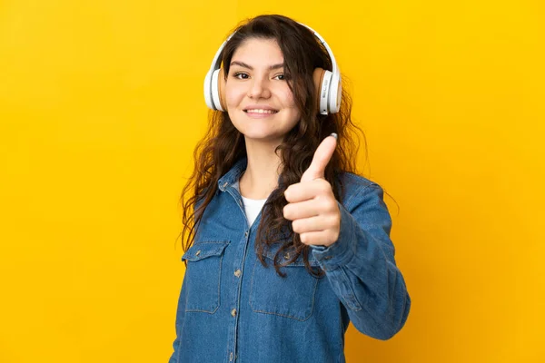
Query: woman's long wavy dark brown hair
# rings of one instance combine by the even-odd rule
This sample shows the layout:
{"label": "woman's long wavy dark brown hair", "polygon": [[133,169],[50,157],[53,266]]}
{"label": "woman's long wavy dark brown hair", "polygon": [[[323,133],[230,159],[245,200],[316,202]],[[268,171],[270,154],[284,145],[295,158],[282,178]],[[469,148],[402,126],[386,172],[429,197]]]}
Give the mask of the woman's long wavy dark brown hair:
{"label": "woman's long wavy dark brown hair", "polygon": [[[260,15],[238,25],[221,54],[225,78],[229,74],[229,65],[235,50],[251,38],[276,40],[284,58],[285,77],[292,90],[294,101],[301,111],[299,123],[284,135],[282,143],[275,149],[281,158],[282,172],[279,186],[272,191],[263,205],[262,219],[255,240],[256,254],[266,267],[263,255],[272,245],[279,246],[274,256],[274,269],[280,276],[285,276],[280,268],[297,260],[302,254],[306,269],[313,276],[319,277],[323,275],[323,271],[314,270],[309,264],[310,247],[302,243],[298,233],[293,232],[291,221],[283,218],[282,210],[287,204],[283,192],[289,185],[301,181],[302,173],[311,164],[312,156],[320,142],[332,132],[336,132],[337,147],[325,169],[324,176],[332,184],[335,198],[341,201],[344,188],[339,175],[342,172],[357,173],[354,156],[359,149],[359,140],[354,137],[355,131],[362,133],[364,141],[365,135],[357,125],[352,123],[352,99],[345,88],[342,89],[339,113],[328,115],[318,113],[318,91],[313,86],[312,72],[316,67],[331,71],[332,61],[316,36],[308,28],[289,17]],[[342,82],[346,84],[344,77]],[[367,142],[365,145],[367,148]],[[246,156],[244,136],[233,126],[229,114],[211,110],[208,131],[194,149],[193,173],[185,184],[181,196],[182,240],[185,240],[187,236],[183,244],[184,251],[193,244],[195,227],[198,228],[203,211],[213,200],[218,188],[218,180],[244,156]],[[282,254],[288,249],[293,250],[292,259],[281,263]]]}

